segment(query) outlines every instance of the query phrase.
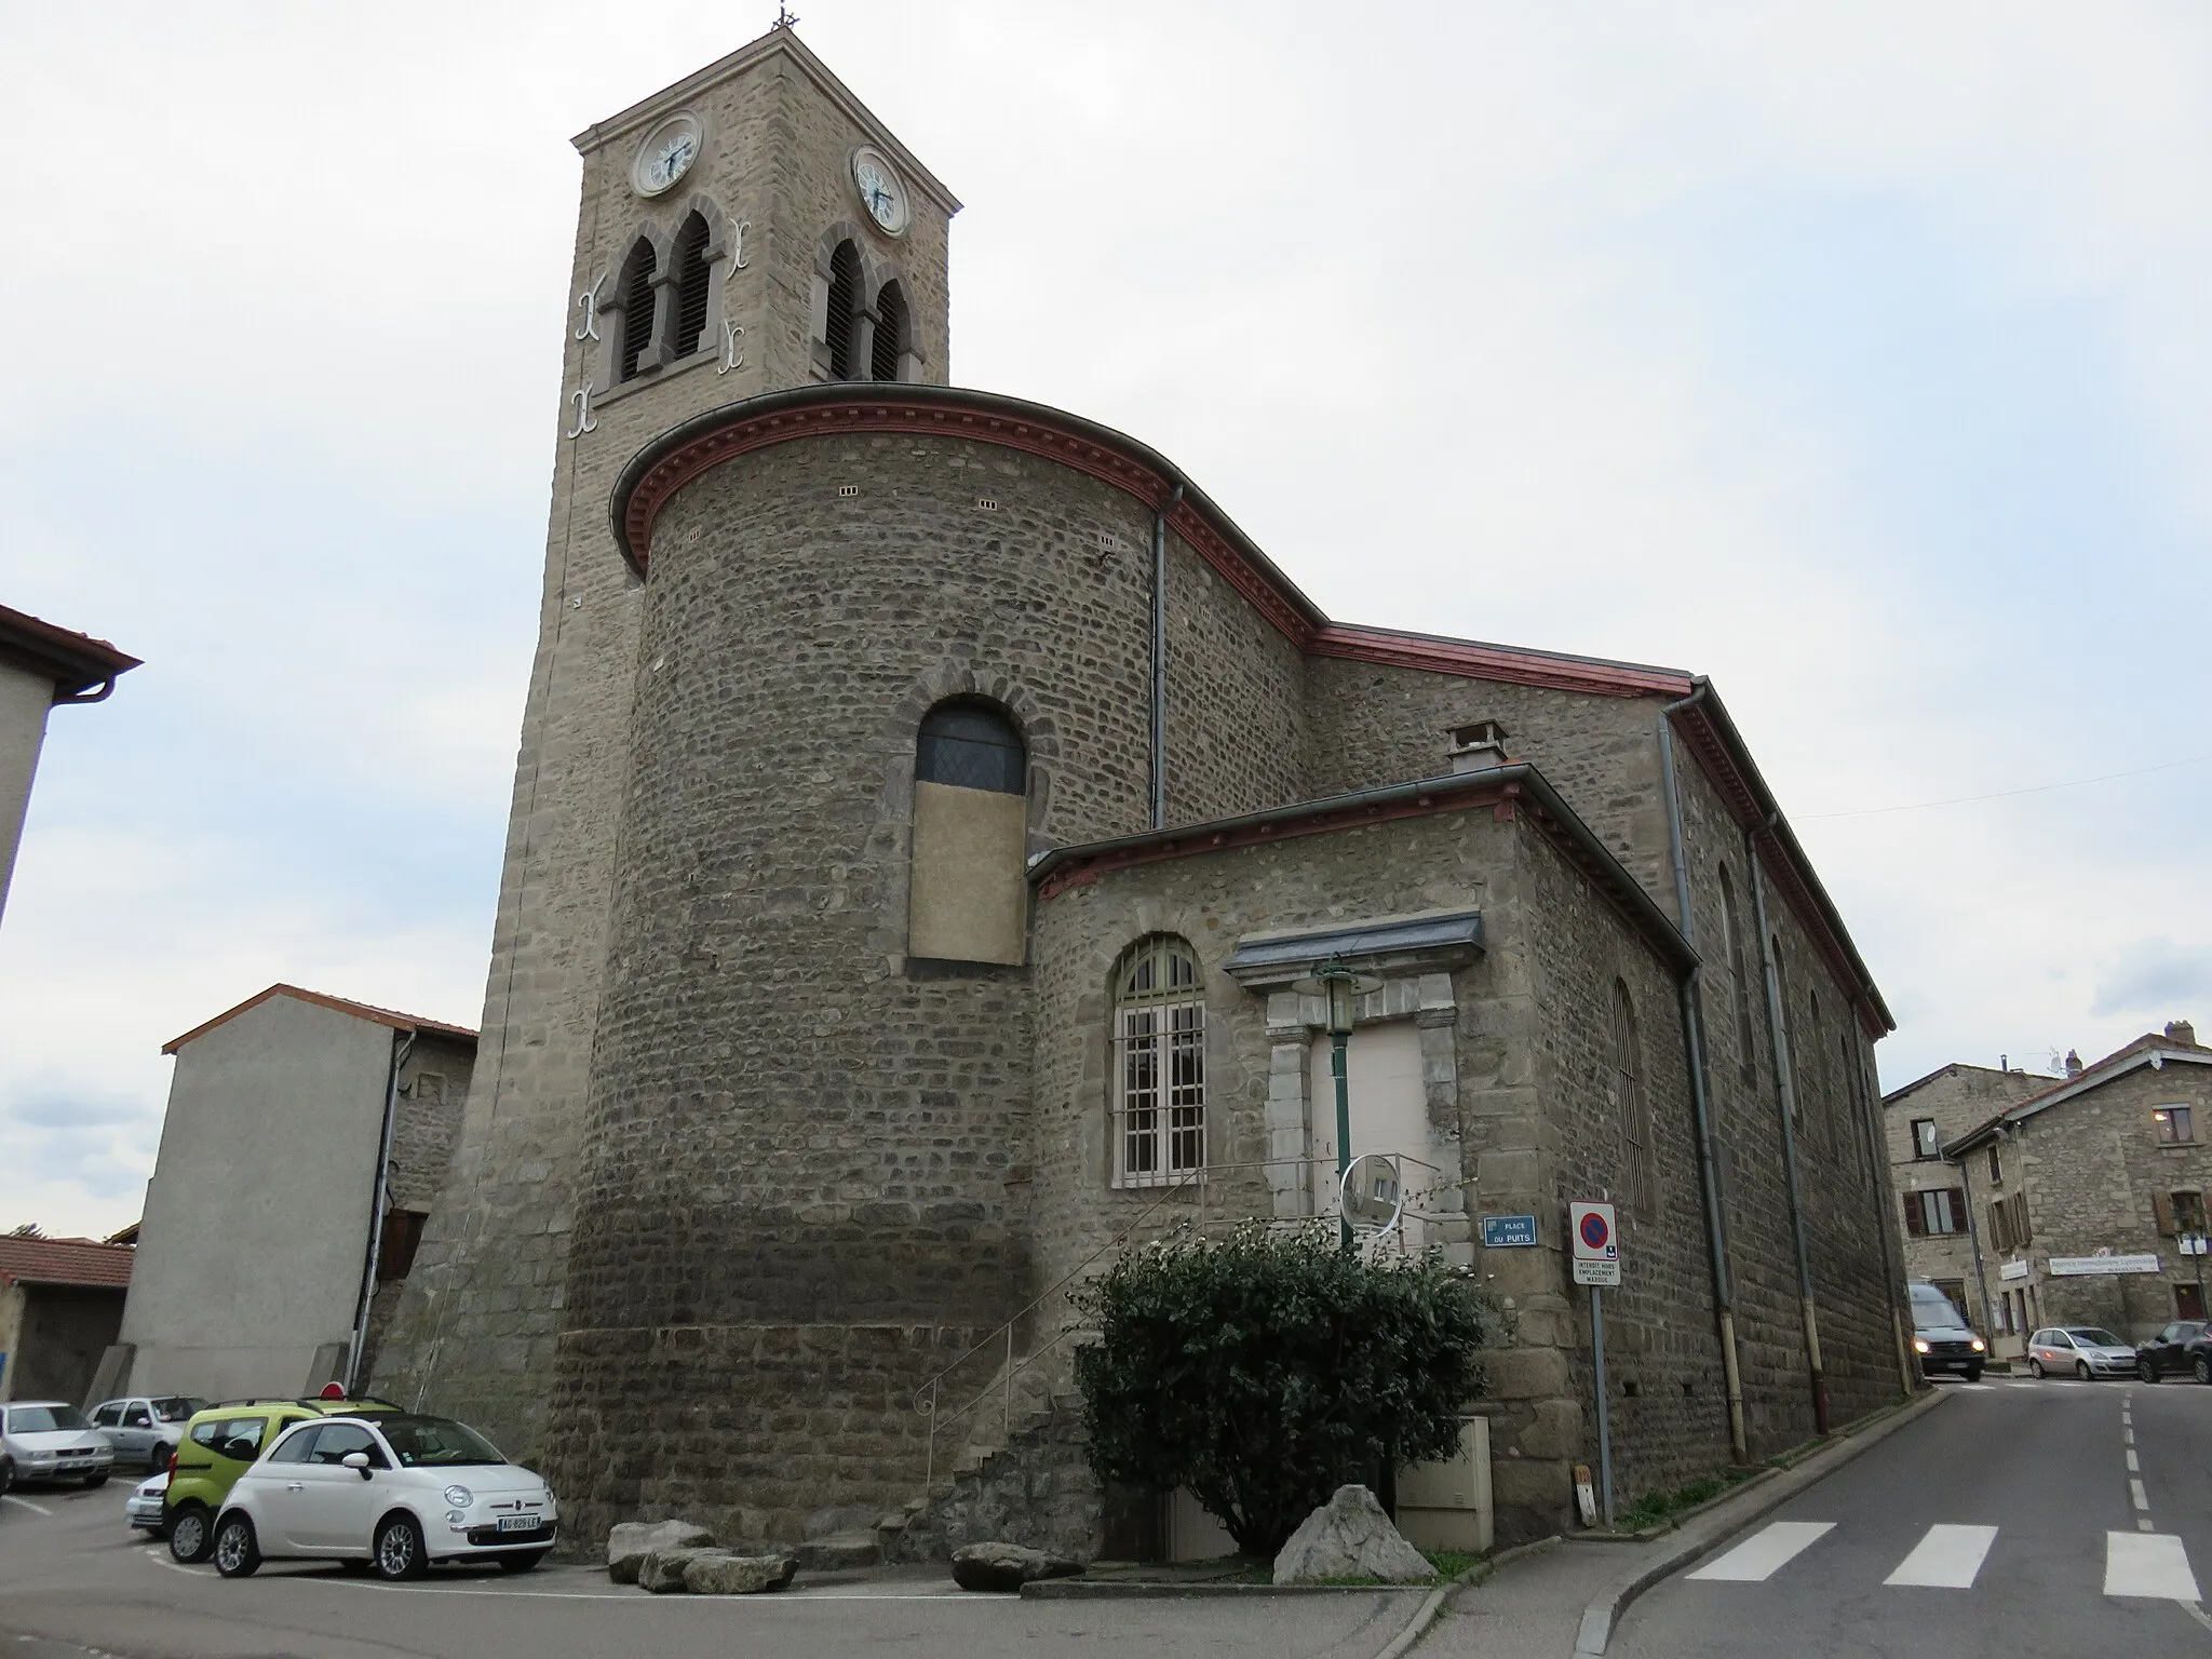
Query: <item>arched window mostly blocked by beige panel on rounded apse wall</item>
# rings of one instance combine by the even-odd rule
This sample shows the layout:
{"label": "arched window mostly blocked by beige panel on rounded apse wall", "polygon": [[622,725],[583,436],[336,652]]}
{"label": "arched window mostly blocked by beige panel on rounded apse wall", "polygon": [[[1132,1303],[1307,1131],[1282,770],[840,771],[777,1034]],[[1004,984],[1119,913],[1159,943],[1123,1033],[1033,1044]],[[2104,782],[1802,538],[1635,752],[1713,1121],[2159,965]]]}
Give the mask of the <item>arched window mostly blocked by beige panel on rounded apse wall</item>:
{"label": "arched window mostly blocked by beige panel on rounded apse wall", "polygon": [[1029,925],[1029,750],[1004,710],[956,699],[914,739],[907,956],[1020,962]]}

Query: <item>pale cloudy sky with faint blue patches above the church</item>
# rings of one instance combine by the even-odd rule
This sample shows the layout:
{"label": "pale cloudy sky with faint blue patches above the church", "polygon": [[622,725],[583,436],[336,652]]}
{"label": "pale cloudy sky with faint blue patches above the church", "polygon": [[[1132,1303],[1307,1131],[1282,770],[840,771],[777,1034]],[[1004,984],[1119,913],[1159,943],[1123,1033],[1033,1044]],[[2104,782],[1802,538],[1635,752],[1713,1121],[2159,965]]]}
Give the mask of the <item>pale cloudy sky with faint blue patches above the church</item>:
{"label": "pale cloudy sky with faint blue patches above the church", "polygon": [[[2212,11],[794,2],[969,204],[956,383],[1336,617],[1712,675],[1885,1086],[2212,1026]],[[478,1022],[568,135],[772,15],[0,0],[0,604],[146,659],[49,721],[0,1230],[135,1219],[274,980]]]}

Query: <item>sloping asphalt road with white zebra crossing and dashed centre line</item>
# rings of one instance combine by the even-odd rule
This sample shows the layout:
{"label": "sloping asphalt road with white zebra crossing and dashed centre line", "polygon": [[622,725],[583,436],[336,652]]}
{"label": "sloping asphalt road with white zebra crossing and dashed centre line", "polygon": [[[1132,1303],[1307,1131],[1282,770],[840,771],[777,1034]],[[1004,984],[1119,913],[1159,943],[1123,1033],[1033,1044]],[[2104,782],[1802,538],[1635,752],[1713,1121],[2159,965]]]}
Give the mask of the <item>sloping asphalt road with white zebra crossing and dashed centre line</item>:
{"label": "sloping asphalt road with white zebra crossing and dashed centre line", "polygon": [[1619,1659],[2212,1655],[2212,1389],[1949,1385],[1646,1590]]}

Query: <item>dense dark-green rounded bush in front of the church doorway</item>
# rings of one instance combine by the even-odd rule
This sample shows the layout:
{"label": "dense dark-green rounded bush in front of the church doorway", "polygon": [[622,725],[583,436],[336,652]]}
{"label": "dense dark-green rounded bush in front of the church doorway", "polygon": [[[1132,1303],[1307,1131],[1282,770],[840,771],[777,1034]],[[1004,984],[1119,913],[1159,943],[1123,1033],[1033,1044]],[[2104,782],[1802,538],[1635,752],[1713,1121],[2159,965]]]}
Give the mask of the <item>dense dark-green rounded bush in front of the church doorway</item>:
{"label": "dense dark-green rounded bush in front of the church doorway", "polygon": [[1482,1387],[1486,1305],[1436,1250],[1369,1263],[1248,1223],[1135,1250],[1079,1303],[1099,1329],[1075,1352],[1091,1469],[1188,1486],[1250,1555],[1338,1486],[1449,1455]]}

